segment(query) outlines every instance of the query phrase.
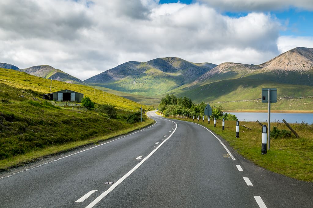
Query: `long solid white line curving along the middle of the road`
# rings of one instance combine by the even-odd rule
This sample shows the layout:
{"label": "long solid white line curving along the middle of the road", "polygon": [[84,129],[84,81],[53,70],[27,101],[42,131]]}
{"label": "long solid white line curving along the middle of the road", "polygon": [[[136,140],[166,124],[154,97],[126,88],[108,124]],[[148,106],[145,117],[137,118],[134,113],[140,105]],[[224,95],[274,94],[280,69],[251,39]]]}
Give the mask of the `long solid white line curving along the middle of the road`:
{"label": "long solid white line curving along the middle of the road", "polygon": [[[164,119],[166,120],[166,119]],[[167,120],[170,121],[170,120]],[[173,121],[171,121],[173,122]],[[173,122],[175,123],[175,122]],[[143,160],[141,160],[135,167],[133,167],[129,172],[127,172],[123,177],[121,177],[118,181],[116,181],[108,190],[103,192],[100,196],[98,196],[94,201],[92,201],[86,208],[91,208],[95,206],[99,201],[101,201],[107,194],[109,194],[113,189],[115,189],[116,186],[118,186],[122,181],[124,181],[128,176],[131,175],[138,167],[140,167],[156,150],[158,150],[176,131],[177,129],[177,123],[175,130],[159,145],[157,146],[152,152],[150,152]]]}

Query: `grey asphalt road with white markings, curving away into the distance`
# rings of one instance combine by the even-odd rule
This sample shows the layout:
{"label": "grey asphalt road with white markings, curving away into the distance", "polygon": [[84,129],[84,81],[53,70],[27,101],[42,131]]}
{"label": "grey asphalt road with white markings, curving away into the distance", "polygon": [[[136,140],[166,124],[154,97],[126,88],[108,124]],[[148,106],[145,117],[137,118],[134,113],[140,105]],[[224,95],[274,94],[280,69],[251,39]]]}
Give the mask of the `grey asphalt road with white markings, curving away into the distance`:
{"label": "grey asphalt road with white markings, curving away into the distance", "polygon": [[197,123],[148,115],[140,131],[1,173],[0,207],[313,206],[312,183],[255,166]]}

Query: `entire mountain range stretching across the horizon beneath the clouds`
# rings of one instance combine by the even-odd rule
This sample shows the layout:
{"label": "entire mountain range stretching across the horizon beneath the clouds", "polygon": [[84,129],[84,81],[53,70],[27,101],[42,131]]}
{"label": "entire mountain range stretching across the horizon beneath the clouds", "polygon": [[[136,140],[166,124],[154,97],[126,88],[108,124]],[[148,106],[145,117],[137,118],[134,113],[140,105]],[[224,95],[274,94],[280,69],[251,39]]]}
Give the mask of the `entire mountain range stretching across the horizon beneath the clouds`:
{"label": "entire mountain range stretching across the horizon beneath the clouds", "polygon": [[[76,84],[83,82],[48,65],[21,71]],[[162,98],[170,93],[187,96],[195,102],[219,102],[257,99],[260,88],[276,86],[280,87],[279,96],[310,97],[313,96],[312,77],[313,49],[298,47],[259,65],[192,63],[177,57],[129,61],[83,83],[153,98]]]}

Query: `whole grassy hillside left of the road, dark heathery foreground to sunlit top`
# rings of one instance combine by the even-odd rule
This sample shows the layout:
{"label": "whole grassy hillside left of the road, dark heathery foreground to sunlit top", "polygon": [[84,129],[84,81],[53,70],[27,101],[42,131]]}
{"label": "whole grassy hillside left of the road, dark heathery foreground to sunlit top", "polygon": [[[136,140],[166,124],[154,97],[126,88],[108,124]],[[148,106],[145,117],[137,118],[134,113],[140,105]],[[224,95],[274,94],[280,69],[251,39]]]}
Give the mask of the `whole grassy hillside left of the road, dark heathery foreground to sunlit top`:
{"label": "whole grassy hillside left of the road, dark heathery foreground to sunlit top", "polygon": [[[147,117],[142,123],[140,118],[138,123],[130,122],[128,118],[134,118],[141,108],[131,100],[53,80],[51,91],[61,89],[84,93],[96,103],[96,108],[82,111],[55,106],[42,99],[42,94],[49,93],[50,80],[0,68],[0,171],[153,123]],[[116,116],[109,118],[101,104],[115,105]]]}

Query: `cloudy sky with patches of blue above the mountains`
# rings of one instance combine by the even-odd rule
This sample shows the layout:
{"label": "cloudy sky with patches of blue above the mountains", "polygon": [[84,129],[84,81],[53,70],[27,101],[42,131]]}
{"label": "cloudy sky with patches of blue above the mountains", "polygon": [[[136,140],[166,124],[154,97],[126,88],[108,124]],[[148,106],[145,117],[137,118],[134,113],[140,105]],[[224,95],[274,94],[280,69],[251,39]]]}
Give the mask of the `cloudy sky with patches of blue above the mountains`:
{"label": "cloudy sky with patches of blue above the mountains", "polygon": [[127,61],[261,64],[313,48],[312,0],[1,0],[0,62],[86,80]]}

